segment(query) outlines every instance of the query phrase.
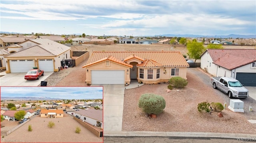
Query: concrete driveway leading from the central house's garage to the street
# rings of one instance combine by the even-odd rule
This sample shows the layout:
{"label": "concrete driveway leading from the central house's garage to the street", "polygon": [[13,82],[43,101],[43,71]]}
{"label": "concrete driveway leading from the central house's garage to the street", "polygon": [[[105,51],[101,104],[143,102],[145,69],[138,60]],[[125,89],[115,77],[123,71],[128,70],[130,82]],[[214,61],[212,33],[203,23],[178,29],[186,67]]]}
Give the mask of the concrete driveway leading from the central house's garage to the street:
{"label": "concrete driveway leading from the central house's garage to the street", "polygon": [[103,86],[104,131],[122,131],[124,84],[92,84]]}

